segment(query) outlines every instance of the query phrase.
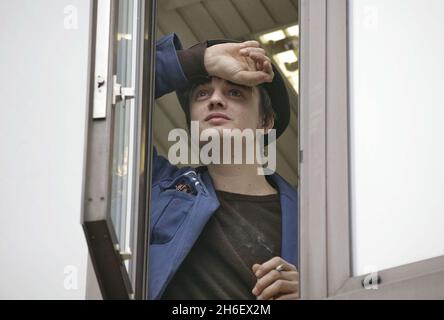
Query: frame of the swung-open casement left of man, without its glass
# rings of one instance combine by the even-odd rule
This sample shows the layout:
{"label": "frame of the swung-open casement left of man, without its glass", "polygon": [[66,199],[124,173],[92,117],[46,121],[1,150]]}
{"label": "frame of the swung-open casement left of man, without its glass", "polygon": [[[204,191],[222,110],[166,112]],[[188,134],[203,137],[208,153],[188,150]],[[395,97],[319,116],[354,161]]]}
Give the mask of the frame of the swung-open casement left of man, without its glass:
{"label": "frame of the swung-open casement left of man, without its glass", "polygon": [[[130,135],[134,134],[131,139],[135,142],[135,159],[130,167],[134,166],[136,172],[130,181],[132,192],[128,197],[134,215],[130,223],[135,254],[131,257],[129,270],[111,219],[113,80],[117,72],[119,1],[91,1],[89,109],[86,119],[81,223],[94,268],[88,270],[88,282],[93,281],[95,274],[103,299],[147,299],[157,1],[135,0],[137,17],[134,19],[137,18],[138,24],[137,50],[131,62],[131,68],[136,70],[133,84],[135,100],[131,106],[136,109],[136,116],[131,119],[134,123],[130,126]],[[99,75],[104,80],[100,90]],[[128,214],[128,206],[122,210],[122,215]],[[97,295],[92,283],[88,283],[88,288],[93,295]]]}

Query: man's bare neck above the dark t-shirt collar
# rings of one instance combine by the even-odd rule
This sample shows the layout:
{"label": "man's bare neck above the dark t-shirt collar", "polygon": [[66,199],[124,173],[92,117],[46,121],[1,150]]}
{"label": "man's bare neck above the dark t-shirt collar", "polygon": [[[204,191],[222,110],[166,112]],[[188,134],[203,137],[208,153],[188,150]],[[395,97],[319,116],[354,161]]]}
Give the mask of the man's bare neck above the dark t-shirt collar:
{"label": "man's bare neck above the dark t-shirt collar", "polygon": [[265,176],[257,174],[258,168],[254,164],[213,164],[208,166],[208,172],[219,191],[258,196],[276,194]]}

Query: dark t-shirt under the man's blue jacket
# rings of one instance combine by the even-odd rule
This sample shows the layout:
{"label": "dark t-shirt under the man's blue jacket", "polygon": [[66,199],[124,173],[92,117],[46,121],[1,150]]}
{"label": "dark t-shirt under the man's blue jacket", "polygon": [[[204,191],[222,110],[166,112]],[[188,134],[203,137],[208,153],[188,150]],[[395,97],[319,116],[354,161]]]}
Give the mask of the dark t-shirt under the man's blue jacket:
{"label": "dark t-shirt under the man's blue jacket", "polygon": [[256,299],[255,263],[281,255],[279,195],[216,191],[210,218],[161,299]]}

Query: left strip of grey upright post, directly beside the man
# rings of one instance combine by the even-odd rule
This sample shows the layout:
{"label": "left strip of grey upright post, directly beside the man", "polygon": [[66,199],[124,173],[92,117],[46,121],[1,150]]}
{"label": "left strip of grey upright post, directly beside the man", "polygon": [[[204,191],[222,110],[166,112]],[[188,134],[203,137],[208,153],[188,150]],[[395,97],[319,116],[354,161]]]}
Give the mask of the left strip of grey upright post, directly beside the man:
{"label": "left strip of grey upright post, directly beside the man", "polygon": [[326,1],[300,0],[301,299],[326,297],[325,37]]}

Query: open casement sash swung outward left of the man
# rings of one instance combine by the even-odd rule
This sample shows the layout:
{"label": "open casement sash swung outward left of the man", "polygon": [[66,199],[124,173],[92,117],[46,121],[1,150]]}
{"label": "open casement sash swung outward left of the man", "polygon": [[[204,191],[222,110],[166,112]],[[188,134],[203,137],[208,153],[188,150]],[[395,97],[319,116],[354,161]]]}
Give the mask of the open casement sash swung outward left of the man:
{"label": "open casement sash swung outward left of the man", "polygon": [[91,4],[82,224],[101,296],[144,299],[156,1]]}

